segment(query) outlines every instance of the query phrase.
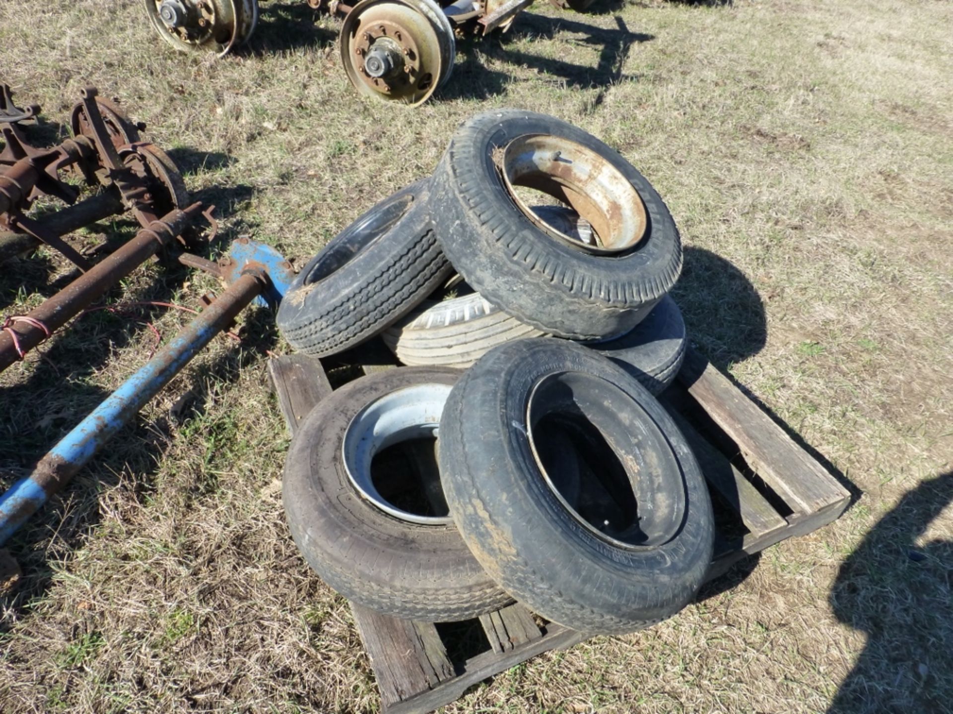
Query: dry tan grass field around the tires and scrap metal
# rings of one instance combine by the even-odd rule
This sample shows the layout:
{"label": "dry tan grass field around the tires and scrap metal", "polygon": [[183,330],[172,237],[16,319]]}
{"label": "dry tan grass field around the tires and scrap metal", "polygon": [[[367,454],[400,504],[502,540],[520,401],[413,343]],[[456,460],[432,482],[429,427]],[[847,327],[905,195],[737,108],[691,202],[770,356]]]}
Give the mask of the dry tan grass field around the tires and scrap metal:
{"label": "dry tan grass field around the tires and scrap metal", "polygon": [[[448,86],[404,110],[355,95],[339,21],[304,0],[263,3],[220,60],[167,50],[137,1],[6,0],[0,81],[51,122],[86,85],[121,98],[218,206],[215,250],[251,235],[298,266],[427,175],[476,111],[598,135],[679,223],[695,344],[858,499],[674,619],[538,657],[447,711],[953,711],[953,4],[596,10],[538,2],[460,41]],[[69,273],[44,251],[3,266],[0,311]],[[213,288],[150,265],[110,300],[195,307]],[[188,319],[147,317],[167,339]],[[272,325],[246,313],[240,345],[217,339],[10,541],[24,575],[0,600],[0,711],[375,710],[350,610],[284,525]],[[2,486],[153,340],[100,311],[0,375]]]}

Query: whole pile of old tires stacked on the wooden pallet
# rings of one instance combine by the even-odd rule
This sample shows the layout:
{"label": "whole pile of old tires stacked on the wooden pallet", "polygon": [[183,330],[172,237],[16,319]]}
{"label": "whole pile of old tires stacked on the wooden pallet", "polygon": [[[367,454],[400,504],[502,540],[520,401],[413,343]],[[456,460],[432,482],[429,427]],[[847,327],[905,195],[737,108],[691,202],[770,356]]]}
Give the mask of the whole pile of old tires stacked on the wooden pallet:
{"label": "whole pile of old tires stacked on the wooden pallet", "polygon": [[686,605],[714,526],[655,396],[686,344],[667,295],[680,268],[668,209],[618,152],[528,111],[465,122],[433,176],[341,232],[278,312],[302,352],[382,336],[408,366],[335,390],[296,432],[283,499],[308,563],[414,620],[517,600],[619,633]]}

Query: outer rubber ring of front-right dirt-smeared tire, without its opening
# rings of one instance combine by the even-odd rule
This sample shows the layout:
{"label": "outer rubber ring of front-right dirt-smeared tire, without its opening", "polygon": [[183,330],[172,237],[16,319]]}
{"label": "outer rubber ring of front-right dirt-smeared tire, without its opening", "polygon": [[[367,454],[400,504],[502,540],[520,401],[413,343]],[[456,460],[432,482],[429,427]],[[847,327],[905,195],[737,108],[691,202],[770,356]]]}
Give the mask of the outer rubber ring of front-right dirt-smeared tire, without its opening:
{"label": "outer rubber ring of front-right dirt-smeared tire, without its opening", "polygon": [[[707,488],[671,417],[644,387],[585,347],[546,345],[553,342],[537,339],[499,347],[451,392],[441,420],[441,467],[466,471],[470,478],[456,478],[455,472],[444,490],[477,560],[518,599],[570,627],[631,630],[673,614],[701,585],[714,537]],[[581,526],[545,485],[529,446],[526,406],[539,379],[565,370],[612,381],[663,429],[679,464],[673,487],[682,489],[685,498],[683,520],[667,543],[610,545]],[[480,428],[455,432],[444,426],[463,418]],[[451,434],[461,438],[455,435],[447,443]],[[477,500],[485,508],[482,515],[468,503]]]}

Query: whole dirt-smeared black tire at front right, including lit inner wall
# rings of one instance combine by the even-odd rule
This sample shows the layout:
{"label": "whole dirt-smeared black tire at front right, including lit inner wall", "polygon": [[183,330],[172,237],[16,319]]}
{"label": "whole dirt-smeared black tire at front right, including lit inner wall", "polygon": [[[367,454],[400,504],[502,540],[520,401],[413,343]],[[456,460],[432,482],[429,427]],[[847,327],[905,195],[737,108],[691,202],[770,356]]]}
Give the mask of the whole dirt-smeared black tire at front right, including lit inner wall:
{"label": "whole dirt-smeared black tire at front right, including lit inner wall", "polygon": [[[607,429],[619,463],[638,465],[629,467],[630,479],[640,467],[643,518],[630,527],[644,524],[657,542],[605,540],[546,485],[527,413],[530,393],[551,375],[603,385],[588,395],[577,389],[573,398],[599,410],[598,428]],[[616,397],[606,401],[600,390]],[[639,441],[645,434],[655,436]],[[646,467],[653,458],[656,467]],[[714,524],[700,467],[655,398],[592,349],[537,338],[487,353],[447,400],[439,464],[447,503],[476,560],[545,618],[583,632],[628,632],[673,615],[704,581]]]}

